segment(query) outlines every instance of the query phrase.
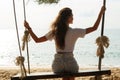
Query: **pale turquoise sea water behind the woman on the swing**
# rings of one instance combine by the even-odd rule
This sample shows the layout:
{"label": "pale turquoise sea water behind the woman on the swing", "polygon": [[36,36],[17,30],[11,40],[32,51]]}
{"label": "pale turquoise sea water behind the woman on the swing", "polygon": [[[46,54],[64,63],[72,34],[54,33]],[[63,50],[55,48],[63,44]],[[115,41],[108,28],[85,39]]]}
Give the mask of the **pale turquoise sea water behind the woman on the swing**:
{"label": "pale turquoise sea water behind the woman on the swing", "polygon": [[[46,31],[41,30],[40,32],[44,34]],[[20,30],[19,33],[21,40],[23,30]],[[106,29],[104,34],[109,37],[110,46],[105,49],[105,58],[102,59],[102,66],[120,67],[120,29]],[[98,65],[95,39],[99,35],[100,30],[97,30],[86,35],[85,38],[78,39],[76,42],[74,56],[80,67],[96,67]],[[15,57],[19,56],[16,32],[14,29],[1,29],[0,36],[0,66],[15,66]],[[26,51],[22,53],[26,58]],[[31,39],[29,42],[29,53],[31,66],[50,67],[55,54],[54,42],[47,41],[36,44]],[[25,60],[25,65],[27,65],[27,59]]]}

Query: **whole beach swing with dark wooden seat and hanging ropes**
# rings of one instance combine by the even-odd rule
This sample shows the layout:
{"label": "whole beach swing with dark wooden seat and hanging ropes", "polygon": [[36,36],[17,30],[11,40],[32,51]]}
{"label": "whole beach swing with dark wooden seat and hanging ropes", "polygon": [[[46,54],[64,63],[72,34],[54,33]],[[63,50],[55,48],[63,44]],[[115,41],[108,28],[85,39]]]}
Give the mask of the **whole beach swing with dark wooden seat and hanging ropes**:
{"label": "whole beach swing with dark wooden seat and hanging ropes", "polygon": [[[24,2],[24,0],[23,0],[23,2]],[[105,6],[105,3],[106,3],[106,0],[104,0],[104,2],[103,2],[104,6]],[[15,2],[14,2],[14,0],[13,0],[13,4],[14,4],[14,13],[15,13]],[[23,5],[24,4],[25,3],[23,3]],[[24,5],[24,17],[25,17],[25,5]],[[98,41],[97,44],[98,43],[102,44],[102,49],[99,48],[99,47],[101,47],[101,45],[98,45],[98,51],[104,50],[104,47],[103,47],[104,43],[102,42],[102,40],[103,40],[102,37],[104,37],[103,36],[104,17],[105,17],[105,13],[103,14],[101,37],[99,37],[99,39],[96,40],[96,41]],[[26,18],[25,18],[25,20],[26,20]],[[15,23],[16,23],[18,45],[19,45],[19,50],[20,50],[20,59],[21,59],[22,53],[21,53],[21,49],[20,49],[20,41],[19,41],[19,34],[18,34],[18,28],[17,28],[16,13],[15,13]],[[108,39],[106,41],[108,41]],[[107,43],[105,43],[105,45],[106,44]],[[109,44],[107,44],[107,46],[109,46]],[[29,70],[28,70],[29,75],[27,75],[26,71],[23,70],[25,72],[25,75],[23,77],[20,78],[19,75],[16,75],[16,76],[11,77],[11,80],[36,80],[36,79],[52,79],[52,78],[63,78],[63,77],[85,77],[85,76],[95,76],[95,80],[102,80],[101,75],[111,75],[111,70],[101,69],[101,62],[102,62],[102,58],[104,56],[103,53],[104,53],[104,51],[101,52],[101,55],[98,55],[99,56],[98,70],[79,71],[78,73],[59,73],[59,74],[55,74],[53,72],[42,72],[42,73],[32,73],[32,74],[30,74],[30,67],[28,67],[29,68]],[[29,57],[27,57],[27,58],[29,58]],[[22,72],[22,67],[24,68],[24,63],[23,62],[24,62],[24,60],[22,60],[22,63],[20,61],[20,63],[22,64],[22,66],[20,66],[21,67],[21,72]],[[28,59],[28,62],[29,62],[29,59]],[[23,74],[21,73],[21,75],[23,75]]]}

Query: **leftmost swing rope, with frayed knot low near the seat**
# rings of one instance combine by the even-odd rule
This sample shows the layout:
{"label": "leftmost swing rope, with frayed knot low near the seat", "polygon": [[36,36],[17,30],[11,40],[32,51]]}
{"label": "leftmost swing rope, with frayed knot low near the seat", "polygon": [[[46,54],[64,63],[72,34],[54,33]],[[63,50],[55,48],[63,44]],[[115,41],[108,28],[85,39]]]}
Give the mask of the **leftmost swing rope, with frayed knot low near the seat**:
{"label": "leftmost swing rope, with frayed knot low near the seat", "polygon": [[21,69],[21,80],[23,77],[26,76],[26,69],[24,66],[24,57],[22,56],[22,51],[20,48],[20,39],[19,39],[19,32],[18,32],[18,25],[17,25],[17,18],[16,18],[16,9],[15,9],[15,1],[13,0],[13,10],[14,10],[14,19],[15,19],[15,26],[16,26],[16,33],[17,33],[17,39],[18,39],[18,46],[19,46],[19,52],[20,56],[16,58],[16,62],[18,65],[20,65]]}

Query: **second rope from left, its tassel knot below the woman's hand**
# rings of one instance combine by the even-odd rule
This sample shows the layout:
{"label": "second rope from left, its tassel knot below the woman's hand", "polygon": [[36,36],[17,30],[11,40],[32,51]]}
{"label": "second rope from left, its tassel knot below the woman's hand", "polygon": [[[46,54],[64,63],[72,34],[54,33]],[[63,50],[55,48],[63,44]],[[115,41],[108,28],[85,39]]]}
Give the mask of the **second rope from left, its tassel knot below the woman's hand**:
{"label": "second rope from left, its tassel knot below the woman's hand", "polygon": [[[25,10],[25,0],[23,0],[23,10],[24,10],[24,21],[26,21],[26,10]],[[30,74],[30,60],[29,60],[29,49],[28,49],[28,41],[30,41],[30,35],[27,29],[24,31],[23,35],[23,44],[22,44],[22,50],[27,49],[27,61],[28,61],[28,73]]]}

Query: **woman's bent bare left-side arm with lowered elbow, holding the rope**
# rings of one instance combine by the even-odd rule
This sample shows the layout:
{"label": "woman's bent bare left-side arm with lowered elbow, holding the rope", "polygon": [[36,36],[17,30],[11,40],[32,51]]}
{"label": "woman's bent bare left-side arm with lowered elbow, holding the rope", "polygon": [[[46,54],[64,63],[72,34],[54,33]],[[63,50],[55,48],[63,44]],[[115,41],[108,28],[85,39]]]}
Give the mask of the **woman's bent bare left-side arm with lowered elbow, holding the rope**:
{"label": "woman's bent bare left-side arm with lowered elbow, holding the rope", "polygon": [[36,42],[36,43],[39,43],[39,42],[44,42],[44,41],[47,41],[47,38],[45,36],[42,36],[40,38],[38,38],[32,31],[32,29],[30,28],[29,24],[27,21],[24,21],[24,26],[28,29],[30,35],[32,36],[33,40]]}

